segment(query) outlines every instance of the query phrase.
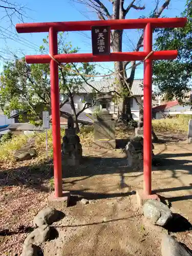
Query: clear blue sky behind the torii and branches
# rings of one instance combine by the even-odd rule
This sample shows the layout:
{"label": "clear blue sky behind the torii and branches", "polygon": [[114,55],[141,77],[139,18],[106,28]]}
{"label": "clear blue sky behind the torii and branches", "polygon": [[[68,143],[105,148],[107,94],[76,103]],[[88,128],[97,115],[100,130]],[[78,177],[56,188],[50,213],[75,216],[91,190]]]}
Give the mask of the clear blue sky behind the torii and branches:
{"label": "clear blue sky behind the torii and branches", "polygon": [[[28,9],[26,9],[28,18],[24,18],[25,22],[61,22],[61,21],[76,21],[76,20],[95,20],[96,14],[91,9],[86,8],[84,5],[74,3],[71,0],[18,0],[22,2]],[[139,2],[136,0],[136,3]],[[145,10],[137,11],[131,9],[126,18],[138,18],[141,15],[147,16],[155,7],[155,0],[141,0],[141,5],[145,5]],[[160,1],[162,4],[164,1]],[[109,0],[102,0],[102,3],[106,5],[109,12],[112,12],[112,4]],[[130,3],[130,0],[125,0],[125,6]],[[167,17],[175,17],[180,15],[184,10],[185,0],[172,0],[168,9],[164,10],[163,15]],[[1,17],[5,13],[0,9]],[[16,18],[13,19],[13,23],[18,23]],[[7,18],[3,19],[0,24],[2,29],[2,35],[4,37],[11,37],[12,39],[1,39],[0,41],[0,54],[5,59],[12,59],[13,53],[18,56],[24,56],[26,54],[36,54],[38,52],[38,46],[42,44],[42,38],[47,36],[47,33],[33,33],[33,34],[17,34],[15,28],[10,26],[10,22]],[[3,29],[3,28],[4,29]],[[68,39],[72,42],[74,47],[80,48],[80,53],[89,53],[91,48],[90,32],[69,32]],[[132,51],[134,45],[139,37],[139,31],[126,30],[123,35],[123,51]],[[4,60],[0,61],[0,71],[2,70]],[[100,67],[102,66],[102,68]],[[104,74],[113,70],[113,63],[105,62],[99,63],[97,71]],[[135,78],[143,77],[142,65],[137,67]]]}

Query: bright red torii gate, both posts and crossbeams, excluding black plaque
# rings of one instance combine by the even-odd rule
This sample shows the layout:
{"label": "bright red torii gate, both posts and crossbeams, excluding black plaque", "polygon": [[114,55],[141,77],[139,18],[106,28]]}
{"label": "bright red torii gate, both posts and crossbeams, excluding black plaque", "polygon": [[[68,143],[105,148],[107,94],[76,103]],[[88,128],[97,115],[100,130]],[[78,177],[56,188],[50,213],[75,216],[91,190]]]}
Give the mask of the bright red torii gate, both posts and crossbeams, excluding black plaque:
{"label": "bright red torii gate, both posts and crossbeams, excluding black plaque", "polygon": [[[152,174],[152,60],[174,59],[177,51],[152,52],[154,28],[184,27],[186,18],[144,18],[144,19],[114,19],[83,22],[50,22],[16,24],[18,33],[49,32],[49,55],[27,55],[27,63],[49,63],[51,69],[51,108],[53,133],[53,164],[55,198],[62,197],[60,114],[59,114],[59,80],[58,63],[61,62],[102,62],[144,60],[144,134],[143,134],[143,193],[150,196]],[[92,26],[110,26],[111,29],[144,29],[143,52],[114,52],[110,55],[95,56],[92,53],[58,54],[57,32],[59,31],[89,31]],[[150,55],[151,53],[151,55]],[[55,61],[56,59],[57,61]]]}

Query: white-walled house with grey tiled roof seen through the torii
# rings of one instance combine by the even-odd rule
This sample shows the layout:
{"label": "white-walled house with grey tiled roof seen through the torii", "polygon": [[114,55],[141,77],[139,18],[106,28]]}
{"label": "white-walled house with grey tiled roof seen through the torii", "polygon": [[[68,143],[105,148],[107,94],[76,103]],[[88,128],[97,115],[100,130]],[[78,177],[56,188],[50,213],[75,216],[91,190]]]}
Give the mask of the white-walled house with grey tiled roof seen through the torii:
{"label": "white-walled house with grey tiled roof seen through the torii", "polygon": [[[112,91],[116,90],[115,79],[102,79],[99,81],[90,82],[91,86],[94,87],[97,91],[104,94],[113,94]],[[137,100],[142,103],[143,96],[143,80],[136,79],[132,85],[132,93],[137,98]],[[90,87],[87,83],[83,83],[78,93],[74,95],[75,108],[81,110],[86,102],[93,103],[95,102],[95,96],[93,96],[94,89]],[[97,92],[96,92],[97,93]],[[60,95],[60,101],[63,100],[63,95]],[[131,110],[134,119],[139,118],[139,105],[137,104],[135,98],[130,98]],[[89,109],[86,109],[84,112],[87,114],[93,114],[95,110],[98,109],[108,109],[110,114],[113,114],[114,117],[118,113],[118,105],[115,104],[112,100],[108,102],[103,102],[100,104],[96,102],[95,105],[90,106]]]}

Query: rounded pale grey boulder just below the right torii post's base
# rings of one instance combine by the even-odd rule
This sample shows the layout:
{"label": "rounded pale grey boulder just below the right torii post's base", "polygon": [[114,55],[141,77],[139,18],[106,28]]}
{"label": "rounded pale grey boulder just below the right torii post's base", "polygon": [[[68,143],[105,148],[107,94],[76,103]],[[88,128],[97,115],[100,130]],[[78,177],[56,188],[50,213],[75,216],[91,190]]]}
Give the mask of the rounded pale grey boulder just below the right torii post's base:
{"label": "rounded pale grey boulder just below the right torii post's base", "polygon": [[172,211],[167,205],[156,200],[148,200],[143,206],[144,217],[150,219],[155,225],[164,226],[173,218]]}

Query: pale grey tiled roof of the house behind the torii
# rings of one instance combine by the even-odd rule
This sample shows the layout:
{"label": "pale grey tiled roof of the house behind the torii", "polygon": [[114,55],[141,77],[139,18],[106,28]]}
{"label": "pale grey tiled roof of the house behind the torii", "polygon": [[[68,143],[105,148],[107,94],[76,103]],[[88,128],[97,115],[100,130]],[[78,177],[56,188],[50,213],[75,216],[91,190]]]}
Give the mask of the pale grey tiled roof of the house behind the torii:
{"label": "pale grey tiled roof of the house behind the torii", "polygon": [[[142,79],[136,79],[133,81],[132,85],[132,93],[135,96],[142,96],[143,89],[142,89]],[[108,93],[109,91],[114,90],[115,79],[102,79],[100,81],[92,81],[90,84],[100,92]],[[92,93],[93,88],[91,88],[87,83],[83,83],[82,87],[79,89],[78,93]]]}

